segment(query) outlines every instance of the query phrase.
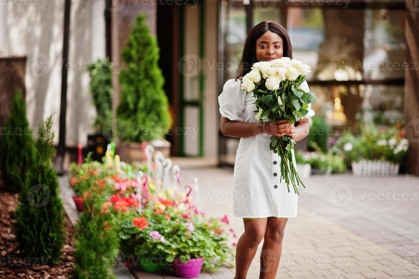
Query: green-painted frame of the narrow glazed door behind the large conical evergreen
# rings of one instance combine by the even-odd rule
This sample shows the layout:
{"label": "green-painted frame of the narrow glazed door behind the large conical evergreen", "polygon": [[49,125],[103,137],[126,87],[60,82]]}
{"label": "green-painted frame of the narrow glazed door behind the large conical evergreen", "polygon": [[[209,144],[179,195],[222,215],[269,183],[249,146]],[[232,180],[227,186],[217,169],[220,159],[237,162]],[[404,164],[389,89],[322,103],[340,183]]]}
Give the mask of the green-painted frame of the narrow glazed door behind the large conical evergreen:
{"label": "green-painted frame of the narrow glazed door behind the large conical evergreen", "polygon": [[[204,60],[204,2],[205,0],[199,0],[199,58],[201,60],[201,66],[204,65],[202,61]],[[180,37],[180,47],[179,47],[179,57],[183,57],[185,46],[184,46],[184,5],[179,6],[179,37]],[[181,68],[183,70],[183,68]],[[185,124],[185,108],[187,106],[198,107],[199,108],[199,156],[204,156],[204,82],[205,76],[204,71],[201,68],[199,71],[199,98],[196,100],[185,100],[184,96],[184,75],[181,73],[179,75],[179,126],[182,128],[182,134],[179,137],[179,155],[186,156],[185,154],[185,138],[184,138],[184,124]]]}

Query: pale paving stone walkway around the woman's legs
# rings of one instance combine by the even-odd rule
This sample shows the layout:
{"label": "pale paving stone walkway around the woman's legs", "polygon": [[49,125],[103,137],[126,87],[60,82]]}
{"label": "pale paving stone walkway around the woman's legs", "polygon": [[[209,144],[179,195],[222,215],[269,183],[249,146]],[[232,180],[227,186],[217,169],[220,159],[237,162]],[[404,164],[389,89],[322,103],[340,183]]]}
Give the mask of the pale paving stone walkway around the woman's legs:
{"label": "pale paving stone walkway around the woman's legs", "polygon": [[[176,164],[176,158],[173,158]],[[182,159],[181,162],[184,162]],[[198,178],[199,206],[209,216],[227,214],[240,236],[243,221],[233,217],[233,170],[187,164],[181,184]],[[419,178],[312,175],[299,189],[298,216],[285,228],[277,278],[419,279]],[[73,206],[72,201],[67,206]],[[67,212],[68,214],[68,212]],[[70,216],[71,219],[71,216]],[[263,240],[248,271],[259,278]],[[199,279],[233,279],[234,269]],[[116,274],[118,276],[118,274]],[[136,270],[138,279],[171,279],[173,274]]]}

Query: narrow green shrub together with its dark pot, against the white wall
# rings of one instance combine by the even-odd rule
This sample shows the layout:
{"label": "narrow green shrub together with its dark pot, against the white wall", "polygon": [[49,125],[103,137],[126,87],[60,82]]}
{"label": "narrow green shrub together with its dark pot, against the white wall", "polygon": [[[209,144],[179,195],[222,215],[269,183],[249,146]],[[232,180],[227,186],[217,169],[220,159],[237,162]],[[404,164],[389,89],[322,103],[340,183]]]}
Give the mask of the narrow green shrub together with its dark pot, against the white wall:
{"label": "narrow green shrub together with its dark pot, against the white wall", "polygon": [[89,90],[96,107],[94,123],[95,133],[88,134],[88,151],[93,152],[92,159],[101,161],[105,156],[106,146],[111,140],[112,129],[112,64],[106,58],[98,59],[88,65],[91,81]]}

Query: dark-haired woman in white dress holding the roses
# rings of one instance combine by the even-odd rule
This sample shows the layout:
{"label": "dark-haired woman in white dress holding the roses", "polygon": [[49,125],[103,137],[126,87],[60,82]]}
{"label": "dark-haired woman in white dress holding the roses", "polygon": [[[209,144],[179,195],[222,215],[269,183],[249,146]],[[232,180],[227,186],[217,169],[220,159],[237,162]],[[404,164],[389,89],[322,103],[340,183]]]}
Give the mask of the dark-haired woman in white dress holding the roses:
{"label": "dark-haired woman in white dress holding the roses", "polygon": [[[240,89],[241,78],[251,70],[253,63],[283,56],[292,58],[287,31],[276,22],[262,21],[248,33],[240,74],[226,81],[218,96],[222,133],[241,138],[234,165],[233,215],[243,218],[245,232],[237,243],[235,279],[246,278],[262,238],[259,278],[275,278],[287,219],[297,216],[297,194],[293,190],[288,192],[284,180],[279,182],[280,159],[276,150],[269,149],[269,142],[272,135],[286,135],[294,141],[305,138],[309,129],[307,118],[314,115],[311,104],[308,115],[295,125],[288,120],[256,123],[253,93],[246,94],[246,90]],[[306,81],[300,89],[310,91]]]}

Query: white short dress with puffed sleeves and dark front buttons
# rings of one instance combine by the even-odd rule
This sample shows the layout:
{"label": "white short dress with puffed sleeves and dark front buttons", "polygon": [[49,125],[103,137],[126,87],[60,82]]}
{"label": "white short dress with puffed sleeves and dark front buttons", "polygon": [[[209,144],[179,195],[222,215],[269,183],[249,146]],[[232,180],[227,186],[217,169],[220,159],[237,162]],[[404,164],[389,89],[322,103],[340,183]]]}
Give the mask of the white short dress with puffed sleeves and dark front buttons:
{"label": "white short dress with puffed sleeves and dark front buttons", "polygon": [[[221,94],[218,96],[220,114],[230,120],[246,123],[256,122],[256,105],[253,92],[246,94],[240,89],[241,80],[229,79],[225,82]],[[300,89],[308,92],[307,81],[300,85]],[[308,105],[308,118],[314,115],[311,104]],[[240,138],[234,162],[234,212],[233,216],[242,218],[265,218],[275,216],[296,217],[298,195],[290,184],[282,179],[280,158],[269,149],[272,135],[261,133],[256,136]],[[295,165],[294,150],[292,150]],[[304,182],[304,181],[303,181]],[[306,183],[304,185],[307,187]],[[300,193],[303,189],[297,186]]]}

